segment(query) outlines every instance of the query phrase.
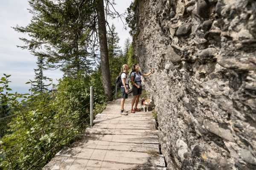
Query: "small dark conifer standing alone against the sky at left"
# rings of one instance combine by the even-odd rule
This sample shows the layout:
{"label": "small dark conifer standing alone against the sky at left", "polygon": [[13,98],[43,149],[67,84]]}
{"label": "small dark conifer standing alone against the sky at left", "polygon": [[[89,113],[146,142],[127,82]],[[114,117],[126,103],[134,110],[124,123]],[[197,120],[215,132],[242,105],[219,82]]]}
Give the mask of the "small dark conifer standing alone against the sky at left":
{"label": "small dark conifer standing alone against the sky at left", "polygon": [[44,85],[44,81],[49,80],[48,77],[44,76],[43,71],[46,69],[44,64],[44,59],[42,57],[38,57],[38,68],[34,69],[35,71],[35,80],[37,84],[33,85],[35,91],[39,91],[43,93],[44,91],[48,91],[47,85]]}

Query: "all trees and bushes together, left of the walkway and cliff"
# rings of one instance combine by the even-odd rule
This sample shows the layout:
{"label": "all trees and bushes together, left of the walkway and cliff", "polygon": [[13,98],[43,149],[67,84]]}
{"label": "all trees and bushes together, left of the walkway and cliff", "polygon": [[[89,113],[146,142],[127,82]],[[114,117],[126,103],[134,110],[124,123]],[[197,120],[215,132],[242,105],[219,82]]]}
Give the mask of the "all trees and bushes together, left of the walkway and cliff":
{"label": "all trees and bushes together, left of the walkway and cliff", "polygon": [[[31,22],[13,29],[29,35],[20,38],[25,45],[18,47],[37,57],[37,68],[27,80],[27,94],[12,92],[8,73],[0,79],[0,170],[42,169],[89,127],[90,86],[95,116],[115,99],[122,65],[136,63],[129,37],[121,48],[116,28],[107,20],[119,17],[131,25],[133,3],[120,14],[110,0],[28,2]],[[53,69],[63,72],[57,85],[44,76]]]}

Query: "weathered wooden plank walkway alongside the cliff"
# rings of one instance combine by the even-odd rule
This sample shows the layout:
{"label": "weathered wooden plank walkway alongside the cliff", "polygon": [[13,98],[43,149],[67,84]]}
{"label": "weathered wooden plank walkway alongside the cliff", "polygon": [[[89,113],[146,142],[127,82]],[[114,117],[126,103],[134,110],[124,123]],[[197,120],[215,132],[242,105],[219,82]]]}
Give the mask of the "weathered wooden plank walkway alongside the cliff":
{"label": "weathered wooden plank walkway alongside the cliff", "polygon": [[[128,111],[131,98],[125,100]],[[142,109],[121,115],[120,102],[110,102],[82,139],[57,153],[43,170],[166,170],[152,113]]]}

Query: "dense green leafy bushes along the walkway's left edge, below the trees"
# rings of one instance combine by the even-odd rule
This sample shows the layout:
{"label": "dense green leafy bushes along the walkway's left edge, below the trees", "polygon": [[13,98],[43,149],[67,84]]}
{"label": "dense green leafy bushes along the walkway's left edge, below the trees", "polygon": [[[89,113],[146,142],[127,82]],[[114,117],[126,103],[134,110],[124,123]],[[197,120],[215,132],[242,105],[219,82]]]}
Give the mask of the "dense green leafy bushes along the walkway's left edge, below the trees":
{"label": "dense green leafy bushes along the walkway's left edge, below the trees", "polygon": [[[51,93],[32,89],[31,94],[4,94],[3,91],[8,91],[7,78],[1,79],[0,99],[12,107],[14,114],[9,123],[10,133],[0,141],[0,167],[39,170],[88,126],[88,82],[96,84],[97,75],[65,77],[58,86],[52,86]],[[102,87],[96,88],[93,96],[95,111],[99,113],[106,105]]]}

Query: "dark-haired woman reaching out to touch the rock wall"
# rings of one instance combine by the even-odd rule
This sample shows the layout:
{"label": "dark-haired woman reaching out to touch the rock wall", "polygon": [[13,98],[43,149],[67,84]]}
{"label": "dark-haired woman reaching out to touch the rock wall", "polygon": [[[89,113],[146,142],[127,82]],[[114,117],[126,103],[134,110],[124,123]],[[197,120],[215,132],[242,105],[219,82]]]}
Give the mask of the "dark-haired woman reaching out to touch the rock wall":
{"label": "dark-haired woman reaching out to touch the rock wall", "polygon": [[[141,76],[148,76],[152,74],[154,72],[154,68],[148,74],[144,74],[138,71],[139,66],[137,64],[134,64],[131,70],[132,94],[134,96],[131,101],[131,113],[135,113],[135,111],[140,111],[140,109],[137,108],[137,105],[139,103],[140,95],[142,94]],[[135,107],[133,109],[134,103]]]}

